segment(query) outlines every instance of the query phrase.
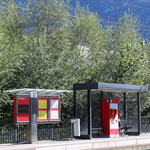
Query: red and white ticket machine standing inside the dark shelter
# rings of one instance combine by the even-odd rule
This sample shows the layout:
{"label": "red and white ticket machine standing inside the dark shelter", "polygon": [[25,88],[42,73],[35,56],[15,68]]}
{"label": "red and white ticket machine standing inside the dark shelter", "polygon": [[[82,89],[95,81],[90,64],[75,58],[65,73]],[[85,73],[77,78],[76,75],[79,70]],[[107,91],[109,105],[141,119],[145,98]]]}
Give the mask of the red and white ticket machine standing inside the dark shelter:
{"label": "red and white ticket machine standing inside the dark shelter", "polygon": [[102,127],[103,135],[119,136],[119,99],[102,100]]}

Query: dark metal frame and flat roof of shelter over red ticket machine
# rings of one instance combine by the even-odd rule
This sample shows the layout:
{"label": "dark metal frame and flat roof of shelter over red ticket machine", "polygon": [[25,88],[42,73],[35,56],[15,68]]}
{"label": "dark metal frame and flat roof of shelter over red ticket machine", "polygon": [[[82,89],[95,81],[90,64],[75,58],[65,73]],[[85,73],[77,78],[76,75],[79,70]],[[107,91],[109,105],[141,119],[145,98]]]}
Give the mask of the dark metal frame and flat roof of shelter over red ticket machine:
{"label": "dark metal frame and flat roof of shelter over red ticket machine", "polygon": [[[74,90],[74,118],[79,118],[77,115],[77,91],[87,91],[87,133],[86,135],[80,138],[92,138],[92,105],[91,105],[91,92],[99,92],[100,93],[100,108],[104,111],[104,107],[102,106],[103,101],[103,94],[104,92],[121,92],[123,95],[123,102],[124,102],[124,118],[127,118],[127,93],[136,93],[136,103],[137,103],[137,122],[138,122],[138,129],[137,132],[132,134],[139,135],[141,134],[141,93],[148,92],[147,86],[140,86],[140,85],[127,85],[127,84],[115,84],[115,83],[76,83],[73,85]],[[108,100],[107,100],[108,101]],[[110,100],[110,101],[117,101],[118,100]],[[86,107],[86,106],[85,106]],[[111,104],[111,107],[115,107],[115,105]],[[107,114],[107,112],[106,112]],[[97,116],[100,117],[101,127],[102,123],[105,120],[102,113]],[[80,119],[81,120],[81,119]],[[81,120],[82,122],[82,120]]]}

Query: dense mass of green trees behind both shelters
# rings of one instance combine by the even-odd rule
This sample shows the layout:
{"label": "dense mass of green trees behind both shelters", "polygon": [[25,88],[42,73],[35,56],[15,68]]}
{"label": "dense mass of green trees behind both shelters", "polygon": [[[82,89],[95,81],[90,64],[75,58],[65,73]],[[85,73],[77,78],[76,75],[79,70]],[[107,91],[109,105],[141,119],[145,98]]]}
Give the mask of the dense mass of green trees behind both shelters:
{"label": "dense mass of green trees behind both shelters", "polygon": [[[120,17],[118,26],[104,28],[96,14],[79,4],[1,2],[0,116],[11,118],[8,89],[72,89],[77,82],[149,85],[149,53],[149,40],[141,38],[132,14]],[[72,97],[62,103],[68,114]],[[148,93],[142,111],[149,107]]]}

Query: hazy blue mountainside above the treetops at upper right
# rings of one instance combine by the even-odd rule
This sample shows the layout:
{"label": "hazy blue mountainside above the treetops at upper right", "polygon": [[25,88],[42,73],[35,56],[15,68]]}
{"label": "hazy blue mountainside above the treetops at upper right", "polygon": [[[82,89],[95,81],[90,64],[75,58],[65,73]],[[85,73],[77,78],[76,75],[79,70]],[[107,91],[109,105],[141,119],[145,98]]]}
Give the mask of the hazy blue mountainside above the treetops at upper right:
{"label": "hazy blue mountainside above the treetops at upper right", "polygon": [[[89,10],[98,14],[103,25],[118,24],[124,12],[130,11],[138,17],[140,33],[150,37],[150,1],[149,0],[78,0],[81,6],[88,5]],[[71,0],[73,6],[76,0]]]}

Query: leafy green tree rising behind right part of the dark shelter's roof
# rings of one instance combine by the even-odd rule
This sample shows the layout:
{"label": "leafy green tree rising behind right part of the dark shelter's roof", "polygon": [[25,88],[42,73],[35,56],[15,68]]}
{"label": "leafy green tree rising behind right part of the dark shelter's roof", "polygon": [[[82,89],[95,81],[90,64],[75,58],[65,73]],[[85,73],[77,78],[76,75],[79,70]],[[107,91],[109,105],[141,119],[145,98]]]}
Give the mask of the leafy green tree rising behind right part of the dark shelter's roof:
{"label": "leafy green tree rising behind right part of the dark shelter's roof", "polygon": [[105,53],[108,69],[104,70],[107,82],[142,85],[148,70],[148,55],[137,20],[125,13],[117,27],[108,29],[108,38]]}

